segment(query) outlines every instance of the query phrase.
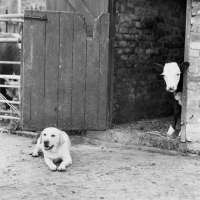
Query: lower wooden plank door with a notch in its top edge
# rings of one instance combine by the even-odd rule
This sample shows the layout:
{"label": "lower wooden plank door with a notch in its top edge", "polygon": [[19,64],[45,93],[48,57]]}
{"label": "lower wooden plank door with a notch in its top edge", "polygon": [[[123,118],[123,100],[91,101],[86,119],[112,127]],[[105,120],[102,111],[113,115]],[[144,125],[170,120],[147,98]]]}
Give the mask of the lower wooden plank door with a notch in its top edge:
{"label": "lower wooden plank door with a notch in its top edge", "polygon": [[109,14],[27,10],[22,52],[23,130],[107,128]]}

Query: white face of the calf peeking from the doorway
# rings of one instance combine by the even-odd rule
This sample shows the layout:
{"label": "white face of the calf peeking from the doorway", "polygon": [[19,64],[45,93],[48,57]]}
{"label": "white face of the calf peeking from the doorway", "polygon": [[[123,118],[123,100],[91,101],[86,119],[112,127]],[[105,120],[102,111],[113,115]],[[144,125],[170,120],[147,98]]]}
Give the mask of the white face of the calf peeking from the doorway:
{"label": "white face of the calf peeking from the doorway", "polygon": [[181,75],[181,70],[177,63],[172,62],[165,64],[161,75],[163,75],[165,80],[167,91],[175,92]]}

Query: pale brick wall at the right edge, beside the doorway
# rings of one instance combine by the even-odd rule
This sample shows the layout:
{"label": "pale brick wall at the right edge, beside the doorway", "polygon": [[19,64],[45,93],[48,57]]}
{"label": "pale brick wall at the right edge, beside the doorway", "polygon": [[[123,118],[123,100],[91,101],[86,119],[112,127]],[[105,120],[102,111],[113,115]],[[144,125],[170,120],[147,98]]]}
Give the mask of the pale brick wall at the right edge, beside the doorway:
{"label": "pale brick wall at the right edge, beside the doorway", "polygon": [[200,0],[192,1],[189,62],[186,139],[195,145],[200,142]]}

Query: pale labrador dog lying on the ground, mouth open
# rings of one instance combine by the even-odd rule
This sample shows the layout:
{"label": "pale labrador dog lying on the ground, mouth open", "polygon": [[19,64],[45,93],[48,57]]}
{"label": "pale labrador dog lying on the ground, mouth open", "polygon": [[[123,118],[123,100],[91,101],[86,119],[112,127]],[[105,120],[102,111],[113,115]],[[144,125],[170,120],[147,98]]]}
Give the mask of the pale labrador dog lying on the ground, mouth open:
{"label": "pale labrador dog lying on the ground, mouth open", "polygon": [[[71,142],[64,131],[54,127],[45,128],[37,140],[36,147],[32,156],[37,157],[40,151],[44,154],[44,161],[52,171],[64,171],[65,168],[72,164],[70,155]],[[62,161],[60,165],[54,164]]]}

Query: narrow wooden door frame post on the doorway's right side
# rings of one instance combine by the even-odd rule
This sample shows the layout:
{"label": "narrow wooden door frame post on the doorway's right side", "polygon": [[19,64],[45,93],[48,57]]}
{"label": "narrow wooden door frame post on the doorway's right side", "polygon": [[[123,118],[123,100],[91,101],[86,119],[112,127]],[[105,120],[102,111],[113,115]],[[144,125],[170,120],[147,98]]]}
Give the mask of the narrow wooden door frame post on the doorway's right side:
{"label": "narrow wooden door frame post on the doorway's right side", "polygon": [[[189,61],[189,43],[191,27],[192,0],[187,0],[186,8],[186,29],[185,29],[185,53],[184,60]],[[181,142],[186,142],[186,118],[187,118],[187,71],[183,72],[183,93],[182,93],[182,112],[181,112]]]}

